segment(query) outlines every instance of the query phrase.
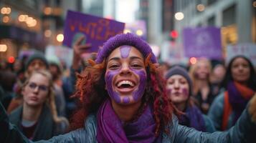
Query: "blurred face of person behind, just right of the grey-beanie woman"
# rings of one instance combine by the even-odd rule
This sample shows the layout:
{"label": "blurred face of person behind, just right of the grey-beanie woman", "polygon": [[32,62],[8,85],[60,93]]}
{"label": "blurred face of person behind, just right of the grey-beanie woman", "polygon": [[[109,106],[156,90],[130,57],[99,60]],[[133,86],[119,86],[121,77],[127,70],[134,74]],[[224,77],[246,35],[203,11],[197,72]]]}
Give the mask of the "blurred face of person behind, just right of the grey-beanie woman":
{"label": "blurred face of person behind, just right of the grey-beanie woman", "polygon": [[207,61],[198,61],[196,63],[195,77],[199,80],[207,80],[209,78],[210,67]]}

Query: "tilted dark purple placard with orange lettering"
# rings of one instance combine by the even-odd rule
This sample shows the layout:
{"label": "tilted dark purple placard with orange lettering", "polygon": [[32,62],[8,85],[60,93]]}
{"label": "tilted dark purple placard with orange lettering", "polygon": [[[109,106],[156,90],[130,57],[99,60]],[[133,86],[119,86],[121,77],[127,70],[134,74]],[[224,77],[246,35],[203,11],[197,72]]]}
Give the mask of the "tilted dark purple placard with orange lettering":
{"label": "tilted dark purple placard with orange lettering", "polygon": [[84,35],[85,41],[82,41],[82,44],[92,44],[92,48],[87,52],[97,52],[111,36],[123,33],[124,26],[125,24],[119,21],[67,11],[63,44],[72,47],[76,39]]}

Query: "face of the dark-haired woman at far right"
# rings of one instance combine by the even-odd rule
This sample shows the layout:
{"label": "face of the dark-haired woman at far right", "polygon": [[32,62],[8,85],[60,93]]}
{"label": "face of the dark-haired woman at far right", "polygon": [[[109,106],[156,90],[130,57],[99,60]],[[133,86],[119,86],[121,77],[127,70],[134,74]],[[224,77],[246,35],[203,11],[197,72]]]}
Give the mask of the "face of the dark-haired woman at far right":
{"label": "face of the dark-haired woman at far right", "polygon": [[231,73],[235,82],[246,84],[250,78],[250,65],[245,59],[238,57],[231,65]]}

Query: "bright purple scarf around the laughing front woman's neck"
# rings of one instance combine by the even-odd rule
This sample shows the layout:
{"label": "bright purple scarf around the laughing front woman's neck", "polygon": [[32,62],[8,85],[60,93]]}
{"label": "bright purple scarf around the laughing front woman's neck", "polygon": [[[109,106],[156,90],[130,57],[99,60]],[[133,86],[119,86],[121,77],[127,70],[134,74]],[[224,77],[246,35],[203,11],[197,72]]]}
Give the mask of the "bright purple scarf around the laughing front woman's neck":
{"label": "bright purple scarf around the laughing front woman's neck", "polygon": [[124,125],[107,99],[100,106],[97,119],[98,142],[161,142],[161,135],[156,138],[154,134],[156,124],[149,106],[135,122]]}

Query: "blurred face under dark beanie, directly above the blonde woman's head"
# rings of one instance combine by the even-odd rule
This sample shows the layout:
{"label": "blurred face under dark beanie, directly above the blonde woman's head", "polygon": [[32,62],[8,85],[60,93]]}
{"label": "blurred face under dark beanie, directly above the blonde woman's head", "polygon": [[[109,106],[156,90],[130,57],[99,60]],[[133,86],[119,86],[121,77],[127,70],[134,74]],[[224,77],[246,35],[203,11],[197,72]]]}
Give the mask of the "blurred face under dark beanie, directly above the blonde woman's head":
{"label": "blurred face under dark beanie, directly above the blonde woman's head", "polygon": [[31,74],[32,71],[37,71],[39,69],[47,69],[47,65],[44,64],[44,61],[42,61],[41,59],[34,59],[27,67],[27,73]]}

